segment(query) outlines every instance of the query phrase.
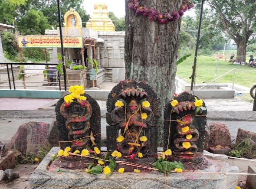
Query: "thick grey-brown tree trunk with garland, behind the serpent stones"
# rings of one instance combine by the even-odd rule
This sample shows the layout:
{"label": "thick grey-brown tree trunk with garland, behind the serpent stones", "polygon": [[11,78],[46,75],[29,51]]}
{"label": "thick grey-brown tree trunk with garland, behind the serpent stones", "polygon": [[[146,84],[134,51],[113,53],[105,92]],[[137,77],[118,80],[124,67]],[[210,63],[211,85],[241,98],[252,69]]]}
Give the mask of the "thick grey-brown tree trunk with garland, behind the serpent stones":
{"label": "thick grey-brown tree trunk with garland, behind the serpent stones", "polygon": [[[182,0],[141,0],[140,6],[155,8],[157,12],[174,12]],[[125,16],[125,76],[145,80],[160,100],[158,146],[163,144],[164,105],[175,91],[176,59],[181,18],[169,23],[150,21],[128,8]]]}

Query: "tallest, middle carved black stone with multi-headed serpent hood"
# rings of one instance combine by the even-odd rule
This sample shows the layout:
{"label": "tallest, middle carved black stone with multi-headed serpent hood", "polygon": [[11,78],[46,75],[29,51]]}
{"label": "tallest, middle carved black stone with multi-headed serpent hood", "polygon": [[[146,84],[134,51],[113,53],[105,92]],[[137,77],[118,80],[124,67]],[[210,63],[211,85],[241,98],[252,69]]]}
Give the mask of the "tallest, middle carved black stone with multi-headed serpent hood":
{"label": "tallest, middle carved black stone with multi-headed serpent hood", "polygon": [[133,79],[120,81],[108,95],[107,111],[108,150],[125,161],[155,156],[159,110],[150,85]]}

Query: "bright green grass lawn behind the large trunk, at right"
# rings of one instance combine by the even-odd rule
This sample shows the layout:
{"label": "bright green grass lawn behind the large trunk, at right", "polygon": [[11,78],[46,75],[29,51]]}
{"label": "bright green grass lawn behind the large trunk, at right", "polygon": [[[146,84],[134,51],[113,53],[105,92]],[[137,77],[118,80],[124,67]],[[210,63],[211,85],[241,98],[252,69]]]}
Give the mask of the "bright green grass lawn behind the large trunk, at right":
{"label": "bright green grass lawn behind the large trunk, at right", "polygon": [[[226,55],[226,57],[229,57]],[[236,58],[236,57],[235,57]],[[229,58],[219,59],[217,68],[217,77],[224,73],[236,68],[235,83],[251,88],[256,83],[256,68],[249,67],[248,65],[235,65],[228,62]],[[248,62],[248,61],[247,61]],[[194,56],[190,56],[184,62],[177,65],[176,75],[182,78],[184,81],[191,83],[189,78],[193,72]],[[214,79],[217,59],[214,55],[211,56],[198,56],[197,59],[197,71],[196,71],[196,84],[208,83]],[[219,78],[216,83],[232,83],[234,72]]]}

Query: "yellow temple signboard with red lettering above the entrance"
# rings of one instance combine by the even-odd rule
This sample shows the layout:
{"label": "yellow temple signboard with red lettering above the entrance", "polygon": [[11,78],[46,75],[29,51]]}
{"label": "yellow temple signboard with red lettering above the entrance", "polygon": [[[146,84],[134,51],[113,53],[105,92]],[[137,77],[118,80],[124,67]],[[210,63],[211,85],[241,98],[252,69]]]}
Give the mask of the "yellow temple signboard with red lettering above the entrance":
{"label": "yellow temple signboard with red lettering above the entrance", "polygon": [[[82,48],[82,36],[63,36],[64,48]],[[60,36],[18,36],[20,48],[36,47],[36,48],[60,48]]]}

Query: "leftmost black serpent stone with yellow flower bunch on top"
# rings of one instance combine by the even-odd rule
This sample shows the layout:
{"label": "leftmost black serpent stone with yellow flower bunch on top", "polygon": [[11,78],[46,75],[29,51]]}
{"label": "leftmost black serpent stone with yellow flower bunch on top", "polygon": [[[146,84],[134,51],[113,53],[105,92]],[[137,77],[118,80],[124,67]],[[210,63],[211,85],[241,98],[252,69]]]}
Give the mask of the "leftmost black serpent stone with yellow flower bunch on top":
{"label": "leftmost black serpent stone with yellow flower bunch on top", "polygon": [[62,150],[70,147],[70,152],[81,152],[83,149],[93,151],[93,147],[100,148],[100,108],[95,99],[83,92],[75,96],[66,95],[60,98],[55,111]]}

